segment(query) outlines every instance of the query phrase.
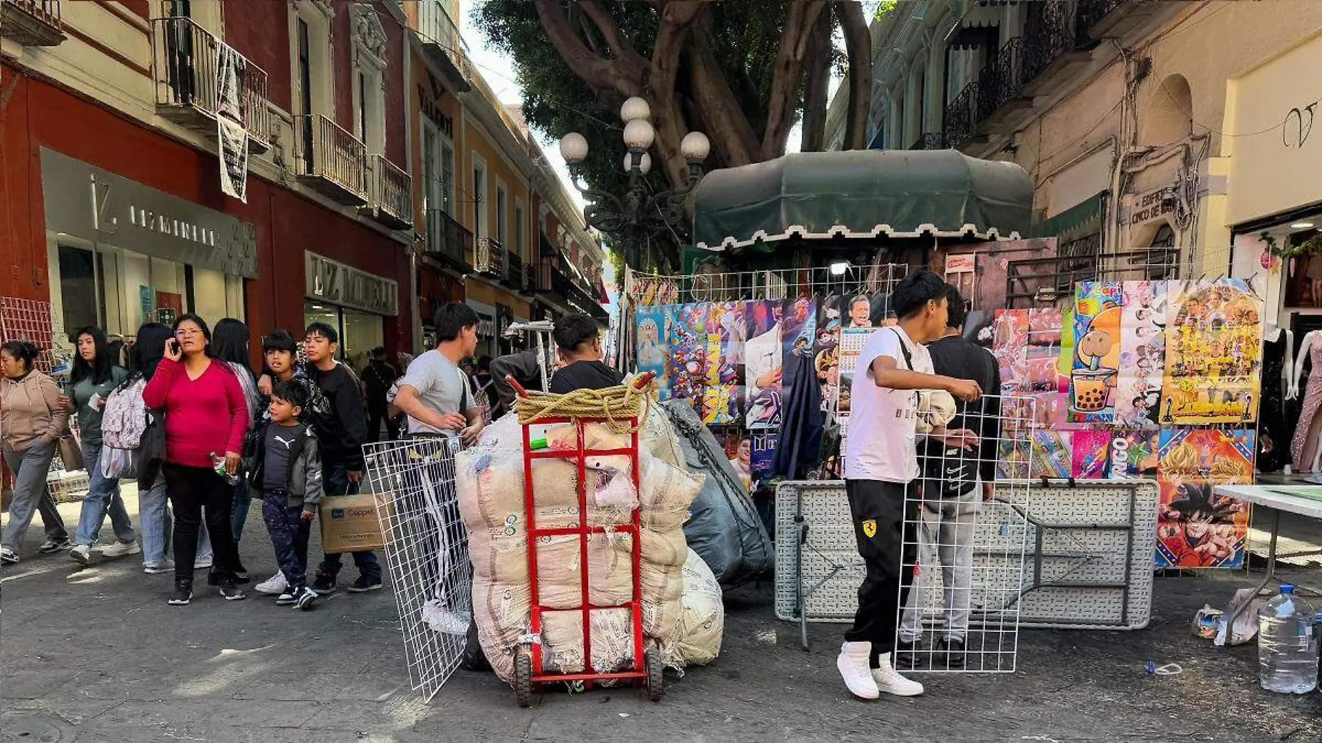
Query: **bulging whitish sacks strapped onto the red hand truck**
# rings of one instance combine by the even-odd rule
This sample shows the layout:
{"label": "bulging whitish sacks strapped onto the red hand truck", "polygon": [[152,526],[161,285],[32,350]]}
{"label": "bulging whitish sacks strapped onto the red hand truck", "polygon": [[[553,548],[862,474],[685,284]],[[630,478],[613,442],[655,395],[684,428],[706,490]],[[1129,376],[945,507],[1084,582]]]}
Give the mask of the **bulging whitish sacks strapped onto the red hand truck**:
{"label": "bulging whitish sacks strapped onto the red hand truck", "polygon": [[[661,416],[650,416],[653,419]],[[640,488],[629,477],[629,457],[588,457],[586,471],[587,522],[608,528],[587,539],[588,603],[623,604],[633,596],[632,535],[611,530],[640,510],[642,631],[660,648],[662,660],[682,665],[677,632],[685,607],[685,562],[689,550],[683,522],[703,477],[677,467],[673,434],[650,424],[640,447]],[[591,424],[587,446],[624,448],[629,436]],[[550,448],[572,450],[571,426],[553,427]],[[662,440],[657,440],[662,439]],[[661,452],[662,456],[653,453]],[[668,461],[669,460],[669,461]],[[531,587],[527,562],[527,514],[524,496],[522,430],[513,415],[488,426],[481,442],[455,457],[459,509],[468,528],[473,565],[473,616],[483,652],[496,674],[514,677],[514,653],[531,627]],[[578,464],[571,459],[533,461],[533,518],[539,529],[579,524]],[[583,554],[578,535],[542,537],[537,545],[539,602],[546,608],[583,606]],[[591,670],[613,673],[635,666],[628,609],[591,612]],[[583,613],[542,613],[542,668],[549,673],[584,670]],[[718,645],[719,648],[719,645]],[[640,664],[641,665],[641,658]]]}

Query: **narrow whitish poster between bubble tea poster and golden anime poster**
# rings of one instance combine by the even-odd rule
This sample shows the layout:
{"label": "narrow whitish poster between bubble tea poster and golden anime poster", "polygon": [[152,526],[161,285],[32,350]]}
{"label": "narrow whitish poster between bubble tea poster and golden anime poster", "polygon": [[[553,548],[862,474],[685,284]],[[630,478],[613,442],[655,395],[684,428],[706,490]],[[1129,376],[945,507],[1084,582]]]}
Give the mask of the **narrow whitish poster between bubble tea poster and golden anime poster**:
{"label": "narrow whitish poster between bubble tea poster and golden anime poster", "polygon": [[1166,369],[1166,282],[1125,282],[1120,323],[1117,426],[1159,428]]}

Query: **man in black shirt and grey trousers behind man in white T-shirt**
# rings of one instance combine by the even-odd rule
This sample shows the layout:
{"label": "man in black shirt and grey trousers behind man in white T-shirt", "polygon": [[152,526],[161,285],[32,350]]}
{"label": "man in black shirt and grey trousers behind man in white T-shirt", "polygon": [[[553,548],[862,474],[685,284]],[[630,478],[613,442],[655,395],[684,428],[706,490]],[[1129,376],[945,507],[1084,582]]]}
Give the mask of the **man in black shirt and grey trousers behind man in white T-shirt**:
{"label": "man in black shirt and grey trousers behind man in white T-shirt", "polygon": [[[949,319],[945,334],[927,345],[932,368],[937,374],[956,379],[970,379],[993,397],[973,402],[956,399],[951,430],[965,428],[978,436],[976,452],[948,447],[937,439],[927,439],[919,448],[923,465],[923,508],[919,513],[919,554],[924,562],[919,584],[908,595],[908,606],[900,623],[900,643],[895,649],[902,666],[914,668],[919,660],[931,658],[932,668],[945,670],[964,666],[964,643],[969,627],[970,584],[973,582],[973,539],[978,493],[990,500],[995,479],[997,442],[999,439],[1001,373],[995,357],[988,349],[964,337],[968,309],[960,291],[947,291]],[[915,653],[923,628],[916,602],[927,594],[923,576],[935,566],[941,566],[945,587],[945,636],[933,653]]]}

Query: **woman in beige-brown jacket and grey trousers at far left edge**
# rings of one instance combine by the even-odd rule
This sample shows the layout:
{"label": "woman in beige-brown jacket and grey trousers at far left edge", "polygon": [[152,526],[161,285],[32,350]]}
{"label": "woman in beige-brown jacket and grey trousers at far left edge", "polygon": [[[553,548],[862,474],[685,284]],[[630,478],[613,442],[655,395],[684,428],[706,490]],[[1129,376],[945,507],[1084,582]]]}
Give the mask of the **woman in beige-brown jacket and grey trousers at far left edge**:
{"label": "woman in beige-brown jacket and grey trousers at far left edge", "polygon": [[[46,492],[46,475],[56,453],[56,442],[69,423],[69,411],[59,405],[59,385],[33,369],[37,348],[26,341],[0,345],[0,450],[15,475],[9,524],[0,537],[0,562],[19,562],[22,542],[33,512],[41,509],[46,524],[42,551],[67,547],[69,534]],[[59,542],[54,549],[48,545]]]}

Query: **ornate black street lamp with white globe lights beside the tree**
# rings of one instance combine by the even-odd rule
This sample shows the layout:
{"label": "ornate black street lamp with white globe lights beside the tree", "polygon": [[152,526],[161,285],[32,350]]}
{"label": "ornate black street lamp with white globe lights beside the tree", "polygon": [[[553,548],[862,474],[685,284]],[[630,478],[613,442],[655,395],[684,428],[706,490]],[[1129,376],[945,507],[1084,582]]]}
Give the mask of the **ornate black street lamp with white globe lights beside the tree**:
{"label": "ornate black street lamp with white globe lights beside the tree", "polygon": [[646,100],[631,98],[620,107],[620,119],[624,122],[624,147],[628,151],[624,156],[624,172],[629,175],[629,188],[623,198],[579,186],[588,151],[587,137],[578,132],[561,137],[561,156],[570,168],[574,188],[590,200],[583,209],[583,219],[588,226],[617,237],[624,243],[625,260],[640,266],[645,249],[654,238],[666,231],[674,235],[686,231],[683,202],[702,180],[702,163],[711,152],[711,143],[702,132],[689,132],[680,143],[680,152],[689,161],[687,181],[680,188],[653,192],[642,178],[652,171],[652,156],[648,153],[656,139],[650,122],[652,108]]}

